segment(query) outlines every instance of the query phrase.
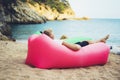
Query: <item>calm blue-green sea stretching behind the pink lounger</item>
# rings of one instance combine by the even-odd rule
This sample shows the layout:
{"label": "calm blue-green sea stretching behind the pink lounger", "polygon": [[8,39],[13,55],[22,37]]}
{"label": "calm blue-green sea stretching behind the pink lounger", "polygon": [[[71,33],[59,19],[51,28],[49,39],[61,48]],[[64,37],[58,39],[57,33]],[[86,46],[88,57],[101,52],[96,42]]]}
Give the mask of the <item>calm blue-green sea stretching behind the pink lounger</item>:
{"label": "calm blue-green sea stretching behind the pink lounger", "polygon": [[27,41],[28,37],[36,31],[51,28],[56,38],[64,34],[69,38],[86,36],[97,40],[110,34],[107,44],[120,46],[120,19],[62,20],[11,26],[12,36],[18,41]]}

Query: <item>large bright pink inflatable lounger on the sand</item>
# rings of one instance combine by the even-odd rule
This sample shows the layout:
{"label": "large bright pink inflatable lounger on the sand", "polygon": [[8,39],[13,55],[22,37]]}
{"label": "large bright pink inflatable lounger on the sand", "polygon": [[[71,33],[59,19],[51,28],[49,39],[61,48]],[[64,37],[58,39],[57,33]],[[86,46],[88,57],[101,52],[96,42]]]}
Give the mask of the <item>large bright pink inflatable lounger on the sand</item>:
{"label": "large bright pink inflatable lounger on the sand", "polygon": [[95,43],[73,51],[57,44],[46,36],[32,35],[28,39],[26,64],[42,68],[73,68],[107,63],[109,47],[105,43]]}

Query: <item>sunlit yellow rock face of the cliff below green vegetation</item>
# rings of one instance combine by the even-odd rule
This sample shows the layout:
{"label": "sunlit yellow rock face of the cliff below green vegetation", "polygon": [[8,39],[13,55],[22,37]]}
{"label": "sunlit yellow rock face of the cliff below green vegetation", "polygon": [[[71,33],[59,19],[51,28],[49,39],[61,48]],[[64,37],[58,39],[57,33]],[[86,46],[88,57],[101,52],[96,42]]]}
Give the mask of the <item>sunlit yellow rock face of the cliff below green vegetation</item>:
{"label": "sunlit yellow rock face of the cliff below green vegetation", "polygon": [[45,16],[48,20],[63,20],[73,18],[75,16],[73,10],[69,7],[62,13],[56,9],[51,9],[48,5],[35,3],[34,5],[28,4],[29,7],[37,12],[39,15]]}

